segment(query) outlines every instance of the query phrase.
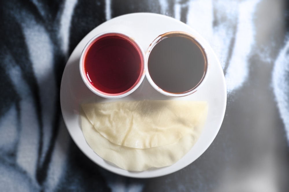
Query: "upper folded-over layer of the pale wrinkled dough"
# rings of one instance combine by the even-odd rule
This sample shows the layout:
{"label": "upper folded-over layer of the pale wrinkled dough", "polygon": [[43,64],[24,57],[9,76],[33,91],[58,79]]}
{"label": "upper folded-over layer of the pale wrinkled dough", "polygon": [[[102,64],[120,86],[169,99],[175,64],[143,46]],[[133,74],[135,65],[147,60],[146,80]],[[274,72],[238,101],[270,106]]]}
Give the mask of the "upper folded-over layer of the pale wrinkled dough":
{"label": "upper folded-over layer of the pale wrinkled dough", "polygon": [[93,103],[82,108],[103,137],[138,149],[173,144],[185,135],[198,136],[208,113],[207,102],[177,100]]}

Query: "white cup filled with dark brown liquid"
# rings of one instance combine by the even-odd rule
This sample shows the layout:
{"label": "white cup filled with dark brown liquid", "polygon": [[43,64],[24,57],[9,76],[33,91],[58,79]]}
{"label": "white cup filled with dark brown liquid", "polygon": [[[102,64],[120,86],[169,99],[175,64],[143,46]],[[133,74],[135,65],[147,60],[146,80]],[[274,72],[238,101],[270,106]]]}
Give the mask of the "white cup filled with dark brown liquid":
{"label": "white cup filled with dark brown liquid", "polygon": [[149,83],[166,96],[196,92],[210,69],[208,54],[198,39],[181,31],[158,36],[148,47],[146,58]]}

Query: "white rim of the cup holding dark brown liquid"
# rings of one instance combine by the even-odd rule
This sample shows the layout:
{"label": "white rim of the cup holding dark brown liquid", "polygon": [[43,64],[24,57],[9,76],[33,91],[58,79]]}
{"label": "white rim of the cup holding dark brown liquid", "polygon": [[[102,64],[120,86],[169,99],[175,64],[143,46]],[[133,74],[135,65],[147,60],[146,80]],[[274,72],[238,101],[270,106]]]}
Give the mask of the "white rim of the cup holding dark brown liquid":
{"label": "white rim of the cup holding dark brown liquid", "polygon": [[[189,37],[190,39],[192,39],[194,41],[194,43],[197,44],[197,46],[200,48],[204,58],[205,58],[205,72],[203,74],[203,77],[201,78],[201,80],[199,81],[199,83],[197,85],[195,85],[192,89],[185,91],[185,92],[181,92],[181,93],[173,93],[173,92],[169,92],[166,90],[163,90],[162,88],[160,88],[157,84],[155,84],[155,82],[152,80],[150,74],[149,74],[149,69],[148,69],[148,62],[149,62],[149,55],[151,53],[151,51],[153,50],[153,47],[159,43],[160,41],[162,41],[163,39],[166,39],[168,37],[173,37],[173,36],[185,36],[185,37]],[[159,35],[158,37],[156,37],[151,44],[149,45],[149,47],[147,48],[146,51],[146,61],[147,61],[147,71],[146,71],[146,77],[147,80],[149,81],[149,83],[151,84],[151,86],[157,90],[158,92],[160,92],[161,94],[164,94],[166,96],[171,96],[171,97],[183,97],[183,96],[188,96],[194,92],[196,92],[197,90],[199,90],[199,88],[201,88],[201,86],[205,83],[206,79],[208,78],[209,75],[209,69],[210,69],[210,58],[209,55],[207,53],[207,51],[205,50],[205,46],[203,46],[202,41],[197,38],[196,36],[184,32],[184,31],[170,31],[170,32],[166,32],[163,33],[161,35]]]}

